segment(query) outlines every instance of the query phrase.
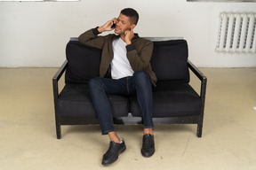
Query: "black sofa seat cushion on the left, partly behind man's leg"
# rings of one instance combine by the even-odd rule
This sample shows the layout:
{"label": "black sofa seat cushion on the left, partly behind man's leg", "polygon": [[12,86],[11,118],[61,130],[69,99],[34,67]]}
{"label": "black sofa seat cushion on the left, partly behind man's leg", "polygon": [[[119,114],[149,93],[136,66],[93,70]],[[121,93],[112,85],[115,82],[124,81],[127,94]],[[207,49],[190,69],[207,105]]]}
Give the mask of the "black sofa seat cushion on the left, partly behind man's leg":
{"label": "black sofa seat cushion on the left, partly behind man's leg", "polygon": [[[113,117],[124,117],[129,113],[127,97],[108,95]],[[87,84],[65,85],[56,104],[56,113],[65,116],[97,118]]]}

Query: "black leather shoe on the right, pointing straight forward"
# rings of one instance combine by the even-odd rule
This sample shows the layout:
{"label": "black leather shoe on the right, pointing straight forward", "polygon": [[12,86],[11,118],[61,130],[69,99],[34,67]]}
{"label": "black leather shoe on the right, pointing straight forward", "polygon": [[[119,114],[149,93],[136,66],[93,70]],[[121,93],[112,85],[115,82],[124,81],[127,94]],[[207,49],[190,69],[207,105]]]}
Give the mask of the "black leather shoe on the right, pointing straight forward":
{"label": "black leather shoe on the right, pointing straight forward", "polygon": [[154,135],[143,135],[141,154],[143,157],[151,157],[155,153]]}

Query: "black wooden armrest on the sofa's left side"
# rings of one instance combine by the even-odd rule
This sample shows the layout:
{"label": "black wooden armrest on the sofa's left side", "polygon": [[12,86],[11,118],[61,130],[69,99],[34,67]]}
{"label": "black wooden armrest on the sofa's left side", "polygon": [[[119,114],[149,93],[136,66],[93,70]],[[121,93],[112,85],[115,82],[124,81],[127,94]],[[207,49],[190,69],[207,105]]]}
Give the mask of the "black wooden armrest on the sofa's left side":
{"label": "black wooden armrest on the sofa's left side", "polygon": [[60,80],[60,77],[62,74],[66,71],[68,66],[68,60],[64,61],[62,66],[60,66],[59,70],[57,73],[52,78],[52,88],[53,88],[53,97],[54,97],[54,107],[55,104],[57,103],[58,97],[59,97],[59,84],[58,81]]}

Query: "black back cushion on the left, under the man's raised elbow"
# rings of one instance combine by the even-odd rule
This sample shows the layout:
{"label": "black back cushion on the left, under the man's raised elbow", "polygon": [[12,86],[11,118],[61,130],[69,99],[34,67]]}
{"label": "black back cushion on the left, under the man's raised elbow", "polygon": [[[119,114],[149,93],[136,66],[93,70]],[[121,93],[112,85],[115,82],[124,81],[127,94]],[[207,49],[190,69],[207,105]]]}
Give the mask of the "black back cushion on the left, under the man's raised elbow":
{"label": "black back cushion on the left, under the man's raised elbow", "polygon": [[100,74],[101,50],[85,46],[77,41],[69,41],[66,47],[68,68],[66,82],[87,83]]}

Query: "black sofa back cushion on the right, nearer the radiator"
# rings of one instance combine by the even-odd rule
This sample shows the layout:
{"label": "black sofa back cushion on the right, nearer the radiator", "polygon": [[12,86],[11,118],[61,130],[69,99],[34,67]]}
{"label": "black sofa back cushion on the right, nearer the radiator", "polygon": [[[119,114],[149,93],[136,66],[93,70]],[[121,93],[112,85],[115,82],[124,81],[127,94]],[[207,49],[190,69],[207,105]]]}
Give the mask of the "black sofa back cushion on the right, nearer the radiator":
{"label": "black sofa back cushion on the right, nearer the radiator", "polygon": [[189,81],[186,40],[154,42],[151,66],[158,81]]}

